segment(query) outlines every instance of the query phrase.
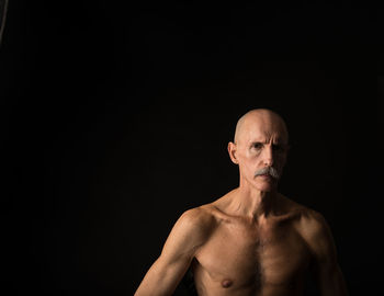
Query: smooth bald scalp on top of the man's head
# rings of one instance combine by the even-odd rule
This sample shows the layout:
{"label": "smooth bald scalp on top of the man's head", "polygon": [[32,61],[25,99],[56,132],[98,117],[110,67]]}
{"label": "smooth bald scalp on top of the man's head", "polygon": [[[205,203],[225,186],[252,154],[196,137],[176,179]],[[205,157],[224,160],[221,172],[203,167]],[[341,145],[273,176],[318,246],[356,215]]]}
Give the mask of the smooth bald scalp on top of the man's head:
{"label": "smooth bald scalp on top of the man's head", "polygon": [[287,144],[289,133],[284,119],[268,109],[255,109],[244,114],[237,122],[235,144],[241,141],[252,129],[262,129],[266,133],[279,133]]}

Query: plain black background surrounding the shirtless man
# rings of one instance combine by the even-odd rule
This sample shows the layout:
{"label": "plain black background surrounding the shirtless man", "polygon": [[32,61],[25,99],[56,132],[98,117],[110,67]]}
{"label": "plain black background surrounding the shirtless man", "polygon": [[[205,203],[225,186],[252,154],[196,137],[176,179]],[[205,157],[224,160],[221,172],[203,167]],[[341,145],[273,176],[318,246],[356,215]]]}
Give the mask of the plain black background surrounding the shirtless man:
{"label": "plain black background surrounding the shirtless man", "polygon": [[0,48],[5,295],[133,295],[180,214],[237,186],[226,146],[255,107],[289,125],[281,192],[327,218],[350,294],[377,295],[376,12],[125,2],[11,0]]}

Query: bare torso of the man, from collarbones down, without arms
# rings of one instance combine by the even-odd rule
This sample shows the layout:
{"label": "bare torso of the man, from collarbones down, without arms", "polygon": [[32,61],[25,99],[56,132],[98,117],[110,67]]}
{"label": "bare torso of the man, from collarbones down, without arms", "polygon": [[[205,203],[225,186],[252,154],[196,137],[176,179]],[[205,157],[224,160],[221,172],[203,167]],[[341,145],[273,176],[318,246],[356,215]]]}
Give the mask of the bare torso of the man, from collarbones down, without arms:
{"label": "bare torso of the man, from collarbones down, without arms", "polygon": [[303,208],[295,207],[257,225],[227,215],[215,204],[203,206],[215,224],[192,264],[199,295],[302,295],[310,261],[296,227]]}

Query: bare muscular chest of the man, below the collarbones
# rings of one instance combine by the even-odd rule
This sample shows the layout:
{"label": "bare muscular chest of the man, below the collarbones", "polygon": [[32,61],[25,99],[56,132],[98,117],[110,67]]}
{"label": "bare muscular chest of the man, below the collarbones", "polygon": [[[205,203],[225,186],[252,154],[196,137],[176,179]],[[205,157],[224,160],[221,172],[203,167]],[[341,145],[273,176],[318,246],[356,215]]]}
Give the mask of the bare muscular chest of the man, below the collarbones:
{"label": "bare muscular chest of the man, below the collarbones", "polygon": [[223,224],[196,254],[195,277],[206,285],[230,281],[233,287],[292,285],[309,253],[289,224],[255,228]]}

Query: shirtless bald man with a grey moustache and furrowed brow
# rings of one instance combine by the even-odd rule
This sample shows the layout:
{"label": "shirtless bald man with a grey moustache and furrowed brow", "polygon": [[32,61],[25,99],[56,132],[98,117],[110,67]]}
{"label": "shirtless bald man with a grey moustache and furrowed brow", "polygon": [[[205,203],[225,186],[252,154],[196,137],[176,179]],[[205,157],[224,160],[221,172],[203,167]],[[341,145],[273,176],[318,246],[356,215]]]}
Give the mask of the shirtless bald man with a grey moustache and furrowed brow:
{"label": "shirtless bald man with a grey moustache and furrowed brow", "polygon": [[276,190],[287,146],[276,113],[245,114],[228,144],[239,186],[181,215],[135,296],[172,295],[190,267],[200,296],[303,295],[309,271],[321,296],[347,295],[327,223]]}

